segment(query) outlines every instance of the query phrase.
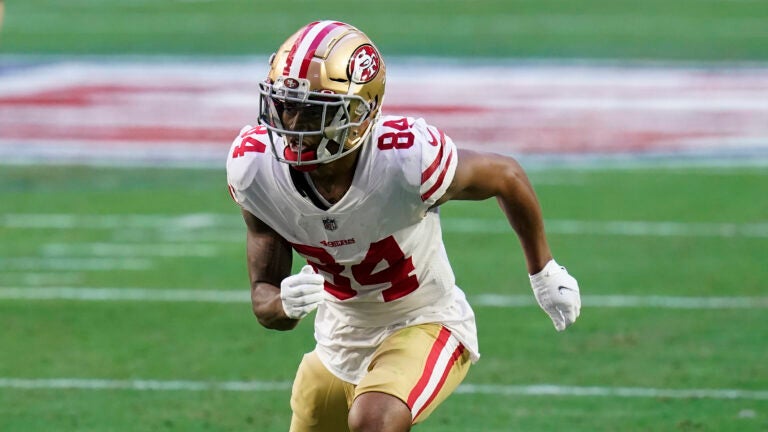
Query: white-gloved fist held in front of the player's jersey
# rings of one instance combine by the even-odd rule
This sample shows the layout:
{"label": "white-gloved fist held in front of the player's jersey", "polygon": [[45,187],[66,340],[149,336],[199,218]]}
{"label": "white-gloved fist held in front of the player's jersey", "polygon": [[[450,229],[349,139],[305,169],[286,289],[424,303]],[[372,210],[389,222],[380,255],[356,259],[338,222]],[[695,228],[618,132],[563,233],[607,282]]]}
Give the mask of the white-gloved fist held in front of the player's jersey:
{"label": "white-gloved fist held in front of the player's jersey", "polygon": [[325,298],[323,283],[325,279],[305,265],[295,275],[280,282],[280,300],[288,318],[301,319],[317,309]]}

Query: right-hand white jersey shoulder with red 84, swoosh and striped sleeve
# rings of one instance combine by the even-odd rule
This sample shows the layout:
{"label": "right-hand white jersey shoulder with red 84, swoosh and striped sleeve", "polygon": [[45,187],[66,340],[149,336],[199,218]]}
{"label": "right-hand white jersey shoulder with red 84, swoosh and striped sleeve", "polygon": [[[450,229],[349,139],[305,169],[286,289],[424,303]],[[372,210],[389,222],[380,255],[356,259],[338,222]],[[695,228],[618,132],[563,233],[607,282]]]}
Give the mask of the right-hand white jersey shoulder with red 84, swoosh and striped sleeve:
{"label": "right-hand white jersey shoulder with red 84, swoosh and striped sleeve", "polygon": [[427,206],[437,202],[453,181],[456,146],[422,118],[383,116],[376,124],[372,145],[379,157],[397,165]]}

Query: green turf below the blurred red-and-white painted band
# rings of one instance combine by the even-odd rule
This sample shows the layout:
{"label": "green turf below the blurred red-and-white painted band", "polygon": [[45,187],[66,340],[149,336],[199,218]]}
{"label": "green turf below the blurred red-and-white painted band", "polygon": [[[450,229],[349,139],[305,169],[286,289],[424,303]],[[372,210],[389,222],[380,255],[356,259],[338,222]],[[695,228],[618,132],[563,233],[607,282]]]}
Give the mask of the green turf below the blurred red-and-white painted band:
{"label": "green turf below the blurred red-and-white painted band", "polygon": [[[495,203],[445,206],[483,358],[418,430],[766,430],[767,176],[533,171],[584,292],[562,334]],[[251,315],[222,172],[6,166],[0,185],[0,430],[287,429],[311,323]]]}

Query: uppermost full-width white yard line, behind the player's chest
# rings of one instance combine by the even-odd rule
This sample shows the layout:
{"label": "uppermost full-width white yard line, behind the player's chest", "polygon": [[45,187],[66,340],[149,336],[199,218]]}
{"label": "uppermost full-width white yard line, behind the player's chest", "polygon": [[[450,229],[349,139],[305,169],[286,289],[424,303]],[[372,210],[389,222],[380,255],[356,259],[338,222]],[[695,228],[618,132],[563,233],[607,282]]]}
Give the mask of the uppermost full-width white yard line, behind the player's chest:
{"label": "uppermost full-width white yard line, behind the player's chest", "polygon": [[[550,234],[614,235],[658,237],[746,237],[768,238],[768,222],[676,222],[676,221],[580,221],[545,220]],[[512,233],[502,218],[442,218],[443,230],[467,233]],[[92,230],[162,230],[171,234],[199,235],[202,229],[239,229],[242,220],[236,214],[197,213],[186,215],[95,215],[9,213],[0,215],[0,228],[7,229],[92,229]]]}

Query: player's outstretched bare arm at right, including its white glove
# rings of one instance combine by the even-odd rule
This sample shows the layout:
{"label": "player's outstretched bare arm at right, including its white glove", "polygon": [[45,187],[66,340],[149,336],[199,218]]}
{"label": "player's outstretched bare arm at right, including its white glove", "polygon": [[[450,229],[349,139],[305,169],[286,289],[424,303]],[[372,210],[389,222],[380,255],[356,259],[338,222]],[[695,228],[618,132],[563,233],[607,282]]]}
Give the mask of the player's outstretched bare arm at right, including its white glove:
{"label": "player's outstretched bare arm at right, including its white glove", "polygon": [[536,300],[555,328],[565,330],[580,313],[579,286],[552,258],[541,206],[528,176],[512,157],[458,150],[453,180],[435,205],[491,197],[499,202],[520,240]]}

